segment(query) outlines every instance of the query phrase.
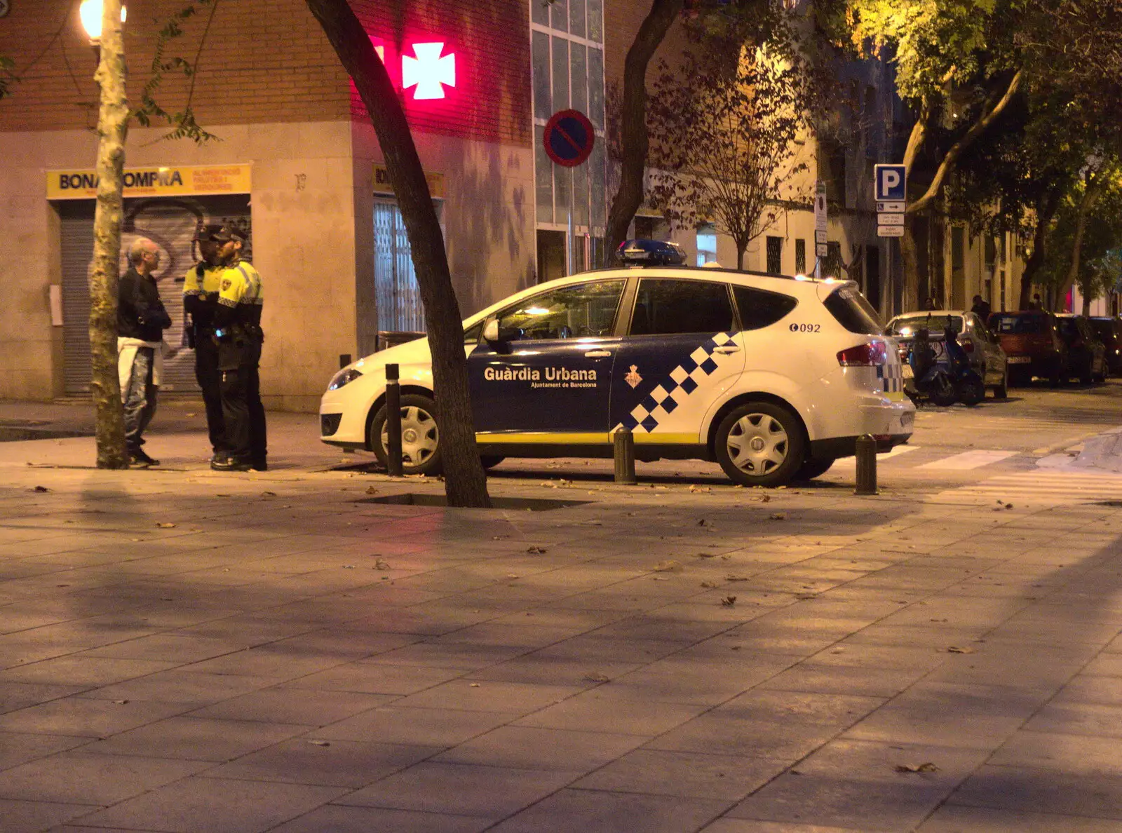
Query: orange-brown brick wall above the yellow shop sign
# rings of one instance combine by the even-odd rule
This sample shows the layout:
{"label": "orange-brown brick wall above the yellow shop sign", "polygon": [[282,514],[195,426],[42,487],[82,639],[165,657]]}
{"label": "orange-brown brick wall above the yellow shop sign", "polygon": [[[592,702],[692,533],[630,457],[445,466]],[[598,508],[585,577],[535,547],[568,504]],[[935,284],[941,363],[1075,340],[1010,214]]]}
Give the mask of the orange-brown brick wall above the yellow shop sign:
{"label": "orange-brown brick wall above the yellow shop sign", "polygon": [[[130,0],[125,48],[129,95],[150,76],[155,33],[185,0]],[[209,9],[184,25],[166,57],[194,62]],[[93,51],[75,0],[21,0],[0,18],[0,54],[22,80],[0,101],[0,131],[92,128],[98,88]],[[302,0],[237,0],[217,7],[197,55],[193,106],[199,122],[261,123],[346,119],[347,73]],[[183,108],[190,82],[168,73],[157,101]]]}

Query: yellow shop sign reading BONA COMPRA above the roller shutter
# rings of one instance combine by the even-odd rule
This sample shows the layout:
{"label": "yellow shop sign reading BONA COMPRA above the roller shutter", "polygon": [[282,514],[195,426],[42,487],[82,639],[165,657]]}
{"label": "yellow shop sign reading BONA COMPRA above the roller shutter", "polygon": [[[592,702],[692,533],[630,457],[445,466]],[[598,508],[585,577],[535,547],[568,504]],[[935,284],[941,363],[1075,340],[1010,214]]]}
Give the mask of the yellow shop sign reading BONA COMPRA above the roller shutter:
{"label": "yellow shop sign reading BONA COMPRA above the roller shutter", "polygon": [[[126,196],[248,194],[250,165],[132,167],[125,172]],[[48,171],[48,200],[91,200],[98,195],[94,171]]]}

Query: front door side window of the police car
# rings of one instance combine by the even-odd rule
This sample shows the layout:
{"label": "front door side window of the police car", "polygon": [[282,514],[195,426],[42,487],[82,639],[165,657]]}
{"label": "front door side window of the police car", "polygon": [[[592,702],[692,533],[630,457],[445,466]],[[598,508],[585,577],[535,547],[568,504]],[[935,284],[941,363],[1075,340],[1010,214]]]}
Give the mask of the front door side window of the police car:
{"label": "front door side window of the police car", "polygon": [[610,336],[624,283],[597,281],[524,299],[498,313],[499,330],[518,330],[516,339]]}

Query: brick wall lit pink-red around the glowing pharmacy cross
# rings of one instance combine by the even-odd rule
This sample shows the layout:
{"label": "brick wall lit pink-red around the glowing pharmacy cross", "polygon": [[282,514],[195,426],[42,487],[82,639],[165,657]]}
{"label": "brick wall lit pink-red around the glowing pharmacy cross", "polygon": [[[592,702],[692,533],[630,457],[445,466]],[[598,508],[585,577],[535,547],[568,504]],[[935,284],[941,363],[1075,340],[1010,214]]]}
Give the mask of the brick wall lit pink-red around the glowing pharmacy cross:
{"label": "brick wall lit pink-red around the glowing pharmacy cross", "polygon": [[[371,37],[385,44],[390,76],[399,82],[402,49],[443,42],[456,53],[456,88],[443,100],[413,101],[410,123],[426,132],[528,146],[531,130],[530,9],[526,0],[351,0]],[[367,119],[352,89],[351,112]]]}

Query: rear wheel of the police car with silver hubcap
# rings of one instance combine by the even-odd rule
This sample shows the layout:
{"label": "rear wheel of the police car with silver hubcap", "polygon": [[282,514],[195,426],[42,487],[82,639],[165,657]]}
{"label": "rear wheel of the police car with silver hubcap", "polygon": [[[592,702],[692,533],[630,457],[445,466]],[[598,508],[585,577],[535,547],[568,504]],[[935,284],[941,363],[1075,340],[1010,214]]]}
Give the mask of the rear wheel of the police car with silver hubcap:
{"label": "rear wheel of the police car with silver hubcap", "polygon": [[717,461],[744,486],[787,483],[803,461],[804,446],[798,418],[770,402],[739,405],[717,428]]}

